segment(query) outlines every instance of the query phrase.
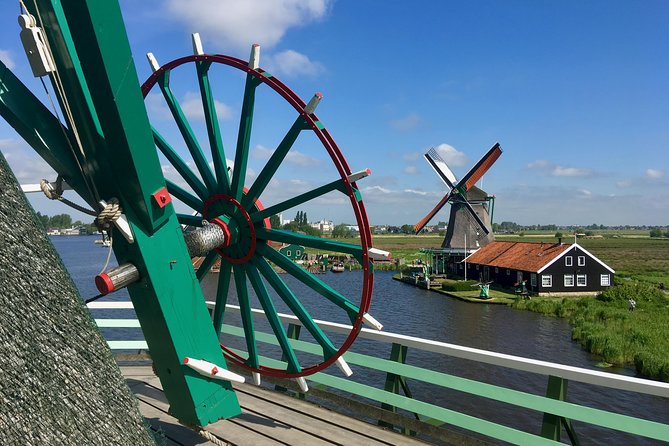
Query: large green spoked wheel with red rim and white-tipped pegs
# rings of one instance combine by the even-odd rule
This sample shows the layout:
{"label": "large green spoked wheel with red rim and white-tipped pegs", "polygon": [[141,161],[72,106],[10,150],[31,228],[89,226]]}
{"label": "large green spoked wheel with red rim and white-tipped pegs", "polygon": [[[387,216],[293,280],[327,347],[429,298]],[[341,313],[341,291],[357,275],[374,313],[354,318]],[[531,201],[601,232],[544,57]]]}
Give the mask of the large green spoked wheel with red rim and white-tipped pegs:
{"label": "large green spoked wheel with red rim and white-tipped pegs", "polygon": [[[178,132],[175,132],[179,135],[178,144],[185,146],[187,152],[186,150],[183,152],[192,158],[192,161],[184,159],[179,153],[177,144],[172,143],[156,129],[156,126],[153,127],[156,147],[168,164],[168,169],[164,170],[176,173],[176,179],[166,176],[166,183],[170,195],[182,209],[185,209],[177,209],[179,222],[184,227],[216,225],[220,229],[219,232],[224,234],[222,243],[202,254],[204,258],[197,268],[196,276],[200,281],[208,276],[211,278],[216,274],[212,272],[212,267],[220,262],[212,312],[216,333],[221,333],[228,296],[230,294],[237,296],[246,353],[233,351],[222,345],[227,359],[253,372],[297,378],[320,371],[334,362],[341,365],[340,356],[351,346],[363,322],[372,325],[376,322],[367,314],[372,298],[374,250],[370,253],[372,238],[369,222],[356,186],[356,180],[368,175],[369,171],[351,172],[337,144],[314,112],[321,99],[320,94],[316,94],[306,104],[282,82],[257,67],[258,49],[254,46],[251,62],[224,55],[196,54],[176,59],[161,67],[154,63],[154,73],[142,86],[142,92],[147,98],[153,90],[160,90],[178,128]],[[210,82],[210,77],[212,81],[215,80],[212,74],[214,68],[245,73],[234,162],[226,158],[222,142],[224,138],[217,115],[217,102]],[[175,76],[188,73],[191,78],[193,75],[197,77],[206,124],[206,139],[210,148],[207,154],[187,118],[188,113],[173,92],[170,82],[170,79],[175,78],[173,73]],[[275,100],[278,94],[278,98],[294,110],[291,118],[294,121],[288,130],[284,131],[276,149],[251,182],[250,175],[247,175],[249,147],[253,134],[256,97],[261,94],[272,95]],[[333,172],[336,172],[336,176],[329,178],[328,182],[320,186],[301,190],[289,198],[266,200],[265,196],[271,195],[268,194],[268,190],[271,189],[268,187],[270,182],[277,175],[282,163],[290,156],[296,141],[305,135],[311,135],[309,137],[322,146],[327,153],[326,158],[334,167]],[[248,187],[247,182],[249,182]],[[338,192],[348,198],[347,201],[359,228],[359,244],[343,243],[270,226],[270,216],[299,208],[330,192]],[[261,204],[261,202],[269,204],[271,201],[276,202],[267,208]],[[296,244],[354,257],[362,266],[359,289],[355,292],[342,292],[326,284],[319,276],[303,269],[275,249],[279,244]],[[288,276],[279,274],[278,271],[286,272]],[[352,329],[345,338],[333,339],[314,322],[320,315],[315,317],[309,305],[302,301],[300,290],[304,289],[308,289],[312,295],[327,302],[331,308],[340,313],[339,316],[350,322]],[[263,364],[262,358],[266,358],[267,355],[264,351],[260,353],[259,342],[254,332],[252,313],[255,304],[262,308],[265,323],[271,328],[278,341],[276,344],[280,347],[275,349],[278,357],[273,359],[283,360],[287,363],[285,367]],[[292,313],[321,347],[322,353],[316,360],[305,362],[302,356],[296,354],[280,320],[278,308]]]}

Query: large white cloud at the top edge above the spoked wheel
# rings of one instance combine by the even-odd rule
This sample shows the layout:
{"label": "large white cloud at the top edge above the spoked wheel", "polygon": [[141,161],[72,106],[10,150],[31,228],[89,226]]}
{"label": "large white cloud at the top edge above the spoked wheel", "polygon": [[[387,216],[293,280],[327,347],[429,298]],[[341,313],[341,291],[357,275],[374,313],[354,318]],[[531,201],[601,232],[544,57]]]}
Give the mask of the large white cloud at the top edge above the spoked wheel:
{"label": "large white cloud at the top edge above the spoked wheel", "polygon": [[221,48],[276,45],[293,27],[325,17],[330,0],[168,0],[167,11]]}

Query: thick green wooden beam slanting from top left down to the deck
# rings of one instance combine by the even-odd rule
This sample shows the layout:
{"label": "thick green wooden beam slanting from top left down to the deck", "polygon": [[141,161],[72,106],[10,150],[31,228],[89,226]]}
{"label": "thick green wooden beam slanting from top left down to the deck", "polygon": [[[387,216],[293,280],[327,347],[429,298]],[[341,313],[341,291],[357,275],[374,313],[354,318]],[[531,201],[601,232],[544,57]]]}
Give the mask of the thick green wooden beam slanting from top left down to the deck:
{"label": "thick green wooden beam slanting from top left down to the deck", "polygon": [[128,291],[170,412],[192,425],[237,415],[241,410],[229,382],[183,365],[185,357],[218,367],[226,363],[174,209],[154,198],[165,181],[119,5],[38,0],[35,7],[62,80],[59,99],[72,110],[69,125],[77,130],[82,165],[94,185],[73,186],[82,196],[94,195],[92,205],[118,198],[132,228],[134,243],[115,231],[114,252],[119,264],[139,269],[141,279]]}

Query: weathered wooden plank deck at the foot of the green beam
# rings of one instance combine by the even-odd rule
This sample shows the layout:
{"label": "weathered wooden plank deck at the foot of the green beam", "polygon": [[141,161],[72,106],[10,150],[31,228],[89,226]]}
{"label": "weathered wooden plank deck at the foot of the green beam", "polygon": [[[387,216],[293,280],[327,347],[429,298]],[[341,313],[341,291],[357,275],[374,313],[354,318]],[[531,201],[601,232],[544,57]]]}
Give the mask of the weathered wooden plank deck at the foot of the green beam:
{"label": "weathered wooden plank deck at the foot of the green beam", "polygon": [[[167,410],[169,404],[150,366],[121,370],[137,395],[151,427],[162,432],[166,445],[369,445],[426,446],[427,443],[380,428],[320,406],[250,384],[235,384],[242,407],[238,417],[222,420],[199,434],[182,426]],[[209,441],[204,436],[210,437]]]}

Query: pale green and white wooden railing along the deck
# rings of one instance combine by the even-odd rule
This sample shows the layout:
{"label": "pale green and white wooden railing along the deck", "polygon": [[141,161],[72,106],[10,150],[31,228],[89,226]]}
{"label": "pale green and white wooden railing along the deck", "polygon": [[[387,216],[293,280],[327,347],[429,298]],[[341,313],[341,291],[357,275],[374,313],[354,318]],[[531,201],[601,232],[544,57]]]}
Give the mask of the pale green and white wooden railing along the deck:
{"label": "pale green and white wooden railing along the deck", "polygon": [[[95,303],[90,304],[89,307],[132,308],[129,302]],[[238,308],[235,306],[228,306],[226,311],[238,312]],[[262,312],[260,310],[254,310],[254,313],[255,315],[259,315]],[[299,325],[299,321],[295,317],[288,315],[280,316],[284,323],[292,324],[294,326]],[[96,322],[101,328],[139,327],[138,322],[132,319],[96,319]],[[350,326],[348,325],[323,321],[316,322],[327,332],[347,334],[350,330]],[[244,336],[241,328],[233,326],[224,326],[223,332],[232,336]],[[256,336],[259,342],[278,345],[274,335],[258,332]],[[582,369],[368,329],[363,329],[359,338],[392,345],[390,359],[382,359],[353,351],[344,354],[345,360],[354,366],[356,373],[360,373],[358,370],[364,373],[364,369],[373,369],[384,372],[386,374],[385,387],[384,383],[379,383],[379,387],[374,387],[355,382],[350,378],[323,372],[307,378],[307,381],[310,382],[310,386],[338,389],[339,391],[348,392],[367,400],[381,403],[383,408],[390,411],[396,411],[398,409],[407,411],[412,413],[414,417],[420,420],[426,420],[433,425],[444,424],[455,426],[480,435],[514,444],[562,444],[559,440],[563,427],[572,444],[579,444],[579,438],[576,432],[577,429],[575,430],[573,427],[573,422],[575,421],[601,426],[606,429],[625,432],[639,437],[669,441],[669,424],[649,421],[634,416],[614,413],[565,401],[567,396],[567,383],[570,381],[600,386],[603,390],[606,390],[606,388],[613,388],[655,395],[667,398],[668,401],[669,383],[615,375],[597,370]],[[301,340],[293,340],[291,342],[296,351],[315,355],[322,354],[321,349],[317,344]],[[146,344],[143,341],[108,341],[108,343],[112,349],[146,348]],[[546,396],[535,395],[447,373],[436,372],[416,367],[411,364],[405,364],[404,362],[406,360],[406,352],[408,349],[418,349],[444,356],[468,359],[479,363],[543,375],[546,377],[547,381]],[[280,361],[275,360],[270,362],[267,358],[265,358],[265,361],[268,361],[267,364],[270,366],[282,367]],[[283,366],[285,367],[285,364]],[[543,416],[542,425],[540,426],[540,429],[538,429],[540,434],[537,435],[525,432],[513,427],[412,398],[407,384],[407,378],[412,382],[422,381],[444,389],[452,389],[465,394],[503,402],[511,406],[537,411]],[[403,391],[404,395],[400,394],[400,391]]]}

